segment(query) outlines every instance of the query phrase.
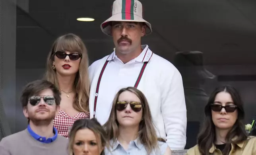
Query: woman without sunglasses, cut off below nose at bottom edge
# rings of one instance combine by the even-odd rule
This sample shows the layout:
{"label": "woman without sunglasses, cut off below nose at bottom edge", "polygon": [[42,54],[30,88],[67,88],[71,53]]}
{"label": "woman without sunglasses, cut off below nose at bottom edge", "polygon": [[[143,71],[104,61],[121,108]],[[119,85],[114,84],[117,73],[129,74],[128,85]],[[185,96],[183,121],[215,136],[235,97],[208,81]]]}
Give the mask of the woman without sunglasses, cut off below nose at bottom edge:
{"label": "woman without sunglasses, cut off below nose at bottom edge", "polygon": [[96,119],[75,121],[69,134],[69,155],[105,155],[107,134]]}

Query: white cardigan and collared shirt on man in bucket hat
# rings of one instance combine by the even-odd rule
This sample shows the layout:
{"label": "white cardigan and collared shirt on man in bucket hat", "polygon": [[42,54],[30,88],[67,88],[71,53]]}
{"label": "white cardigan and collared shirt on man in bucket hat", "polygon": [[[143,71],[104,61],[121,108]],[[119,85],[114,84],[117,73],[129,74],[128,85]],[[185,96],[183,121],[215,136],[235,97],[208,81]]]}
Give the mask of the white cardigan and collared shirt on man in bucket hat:
{"label": "white cardigan and collared shirt on man in bucket hat", "polygon": [[[186,145],[186,104],[182,77],[171,62],[154,54],[147,45],[142,45],[142,53],[124,64],[115,55],[115,51],[97,60],[89,67],[91,81],[89,109],[90,117],[94,113],[94,101],[97,96],[95,117],[103,125],[109,118],[112,101],[116,93],[125,87],[134,86],[142,65],[148,64],[138,85],[144,93],[151,110],[157,135],[166,138],[171,149],[184,149]],[[99,84],[99,75],[109,60]]]}

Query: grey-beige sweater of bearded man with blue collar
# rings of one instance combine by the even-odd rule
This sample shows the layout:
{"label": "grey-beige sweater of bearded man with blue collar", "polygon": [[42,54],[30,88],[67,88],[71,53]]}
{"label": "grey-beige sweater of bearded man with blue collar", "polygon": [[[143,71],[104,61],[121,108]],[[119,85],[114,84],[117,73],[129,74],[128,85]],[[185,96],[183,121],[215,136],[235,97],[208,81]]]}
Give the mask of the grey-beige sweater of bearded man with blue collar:
{"label": "grey-beige sweater of bearded man with blue collar", "polygon": [[68,139],[58,135],[51,143],[35,140],[27,129],[3,138],[0,155],[68,155]]}

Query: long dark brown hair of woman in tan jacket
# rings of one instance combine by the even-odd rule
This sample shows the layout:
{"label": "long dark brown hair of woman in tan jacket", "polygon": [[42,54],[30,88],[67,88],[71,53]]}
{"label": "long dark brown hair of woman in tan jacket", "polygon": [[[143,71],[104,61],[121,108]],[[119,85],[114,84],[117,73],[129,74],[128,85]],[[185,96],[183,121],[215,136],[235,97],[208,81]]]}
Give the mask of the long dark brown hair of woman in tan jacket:
{"label": "long dark brown hair of woman in tan jacket", "polygon": [[[223,155],[228,155],[231,149],[231,143],[237,144],[248,138],[244,126],[244,108],[239,92],[232,86],[224,85],[216,88],[209,97],[205,107],[205,118],[198,134],[197,142],[201,155],[209,155],[209,149],[215,142],[215,125],[212,121],[210,105],[213,104],[215,96],[220,92],[227,92],[231,95],[234,104],[237,106],[238,117],[232,129],[226,135],[226,146],[223,149]],[[236,137],[236,138],[235,138]],[[235,138],[235,139],[233,139]]]}

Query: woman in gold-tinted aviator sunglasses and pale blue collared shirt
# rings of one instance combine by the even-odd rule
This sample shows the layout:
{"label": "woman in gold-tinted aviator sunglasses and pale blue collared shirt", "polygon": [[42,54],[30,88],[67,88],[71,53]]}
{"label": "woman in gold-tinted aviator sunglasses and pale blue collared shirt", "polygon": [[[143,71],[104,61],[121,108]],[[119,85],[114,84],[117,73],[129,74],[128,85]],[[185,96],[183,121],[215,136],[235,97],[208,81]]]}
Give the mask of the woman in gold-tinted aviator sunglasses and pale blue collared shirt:
{"label": "woman in gold-tinted aviator sunglasses and pale blue collared shirt", "polygon": [[145,96],[135,87],[118,91],[104,128],[110,139],[106,155],[171,155],[167,143],[157,138]]}

